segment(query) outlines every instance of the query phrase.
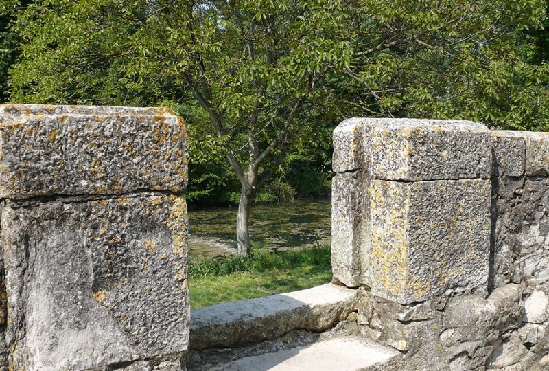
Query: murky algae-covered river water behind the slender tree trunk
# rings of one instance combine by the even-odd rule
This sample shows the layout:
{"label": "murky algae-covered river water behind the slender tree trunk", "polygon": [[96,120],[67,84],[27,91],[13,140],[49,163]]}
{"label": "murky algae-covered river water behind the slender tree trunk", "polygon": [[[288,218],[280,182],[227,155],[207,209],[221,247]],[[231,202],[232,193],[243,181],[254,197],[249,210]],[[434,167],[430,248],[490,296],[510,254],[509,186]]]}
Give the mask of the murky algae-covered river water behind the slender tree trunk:
{"label": "murky algae-covered river water behind the slender tree trunk", "polygon": [[[236,207],[189,211],[192,258],[236,254]],[[254,205],[250,214],[252,245],[272,251],[329,245],[329,199]]]}

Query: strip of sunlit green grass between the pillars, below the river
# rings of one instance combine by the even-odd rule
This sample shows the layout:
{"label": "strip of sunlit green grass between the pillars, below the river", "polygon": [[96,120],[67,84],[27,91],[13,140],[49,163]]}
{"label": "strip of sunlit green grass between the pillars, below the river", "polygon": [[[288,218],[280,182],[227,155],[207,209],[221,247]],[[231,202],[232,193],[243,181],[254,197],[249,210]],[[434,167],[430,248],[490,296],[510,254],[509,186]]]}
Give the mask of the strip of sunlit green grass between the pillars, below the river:
{"label": "strip of sunlit green grass between the pillars, below the river", "polygon": [[331,280],[330,248],[191,260],[189,278],[192,308],[308,289]]}

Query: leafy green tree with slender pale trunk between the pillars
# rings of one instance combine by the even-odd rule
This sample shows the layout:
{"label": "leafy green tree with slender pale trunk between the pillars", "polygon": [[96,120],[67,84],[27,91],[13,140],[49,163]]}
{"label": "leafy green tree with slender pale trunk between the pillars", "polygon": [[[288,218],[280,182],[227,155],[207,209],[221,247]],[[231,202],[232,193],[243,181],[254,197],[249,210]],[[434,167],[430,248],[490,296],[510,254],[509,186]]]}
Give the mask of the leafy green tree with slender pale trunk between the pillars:
{"label": "leafy green tree with slender pale trunk between the pillars", "polygon": [[[322,123],[366,113],[492,124],[511,117],[520,127],[543,117],[546,67],[528,70],[515,49],[525,27],[541,27],[544,6],[543,0],[37,0],[15,5],[12,27],[22,42],[10,99],[196,102],[209,133],[191,138],[191,156],[220,153],[239,179],[237,247],[245,255],[257,188],[314,141],[305,133],[314,135]],[[503,99],[509,93],[521,105],[515,116]]]}

